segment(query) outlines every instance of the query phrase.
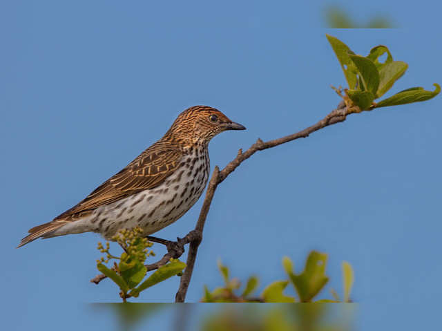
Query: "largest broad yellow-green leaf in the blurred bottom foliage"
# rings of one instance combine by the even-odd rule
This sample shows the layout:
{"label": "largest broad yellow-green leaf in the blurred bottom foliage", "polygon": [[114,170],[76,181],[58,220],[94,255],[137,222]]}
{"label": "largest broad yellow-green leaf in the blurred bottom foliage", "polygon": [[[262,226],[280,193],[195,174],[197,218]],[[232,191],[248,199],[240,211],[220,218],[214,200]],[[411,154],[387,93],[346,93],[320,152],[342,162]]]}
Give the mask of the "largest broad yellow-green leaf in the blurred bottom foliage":
{"label": "largest broad yellow-green leaf in the blurred bottom foliage", "polygon": [[312,251],[307,257],[302,274],[289,274],[300,301],[309,302],[323,289],[329,278],[325,276],[327,254]]}

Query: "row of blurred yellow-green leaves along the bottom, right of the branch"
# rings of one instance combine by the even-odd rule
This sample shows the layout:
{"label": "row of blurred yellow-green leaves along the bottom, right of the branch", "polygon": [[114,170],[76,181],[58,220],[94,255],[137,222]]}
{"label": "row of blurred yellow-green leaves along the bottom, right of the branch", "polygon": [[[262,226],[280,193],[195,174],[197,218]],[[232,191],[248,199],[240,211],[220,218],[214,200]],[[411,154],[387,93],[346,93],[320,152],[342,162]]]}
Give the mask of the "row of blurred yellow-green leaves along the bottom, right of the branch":
{"label": "row of blurred yellow-green leaves along the bottom, right of the branch", "polygon": [[[316,251],[310,252],[305,263],[304,270],[300,274],[294,273],[294,264],[287,256],[282,258],[282,267],[287,274],[287,280],[278,280],[267,285],[260,296],[251,297],[256,287],[258,278],[251,276],[242,294],[237,294],[241,287],[237,278],[229,278],[229,268],[218,262],[218,269],[224,278],[224,287],[217,287],[212,292],[204,286],[204,297],[202,302],[269,302],[269,303],[290,303],[290,302],[313,302],[318,293],[323,290],[329,278],[325,275],[327,267],[327,254]],[[352,266],[343,262],[343,301],[350,302],[349,296],[354,283]],[[298,297],[284,294],[287,285],[293,285]],[[322,299],[316,302],[341,302],[338,294],[332,290],[334,300]]]}

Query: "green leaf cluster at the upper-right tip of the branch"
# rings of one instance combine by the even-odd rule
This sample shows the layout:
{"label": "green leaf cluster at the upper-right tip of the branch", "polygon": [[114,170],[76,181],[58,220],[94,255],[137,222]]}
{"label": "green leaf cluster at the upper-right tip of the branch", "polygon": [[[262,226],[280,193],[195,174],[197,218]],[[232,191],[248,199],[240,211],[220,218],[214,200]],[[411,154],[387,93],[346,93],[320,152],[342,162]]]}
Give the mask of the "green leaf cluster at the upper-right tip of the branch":
{"label": "green leaf cluster at the upper-right tip of the branch", "polygon": [[[396,95],[380,102],[374,102],[392,88],[393,84],[403,76],[408,65],[402,61],[394,61],[390,50],[383,45],[372,48],[369,55],[363,57],[356,55],[336,37],[327,35],[327,39],[338,58],[349,86],[344,89],[345,96],[343,98],[347,108],[354,113],[430,100],[441,91],[438,84],[434,84],[436,86],[434,92],[414,87],[396,93]],[[387,59],[385,62],[380,62],[379,57],[385,53],[387,53]]]}

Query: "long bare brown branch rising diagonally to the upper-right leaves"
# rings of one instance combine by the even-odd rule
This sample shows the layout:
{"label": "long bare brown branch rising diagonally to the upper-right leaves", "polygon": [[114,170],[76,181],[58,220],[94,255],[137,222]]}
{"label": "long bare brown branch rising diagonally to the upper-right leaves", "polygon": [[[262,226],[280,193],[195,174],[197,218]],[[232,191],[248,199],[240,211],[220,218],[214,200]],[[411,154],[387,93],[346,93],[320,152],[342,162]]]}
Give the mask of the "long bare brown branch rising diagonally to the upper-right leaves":
{"label": "long bare brown branch rising diagonally to the upper-right leaves", "polygon": [[[338,93],[340,94],[340,93]],[[341,95],[342,96],[342,95]],[[299,138],[307,138],[310,133],[314,133],[320,129],[325,128],[325,126],[329,126],[332,124],[336,124],[339,122],[344,122],[347,118],[347,115],[351,113],[360,113],[361,110],[356,108],[354,105],[350,104],[346,97],[343,97],[343,101],[338,104],[338,108],[329,113],[327,116],[320,120],[318,123],[309,126],[307,129],[299,131],[298,133],[294,133],[292,135],[286,135],[285,137],[278,138],[275,140],[269,140],[267,142],[263,142],[258,138],[258,140],[251,145],[247,151],[242,153],[242,149],[238,151],[238,155],[231,162],[227,164],[224,169],[220,171],[218,166],[213,170],[212,177],[209,181],[209,185],[207,187],[206,196],[204,198],[204,203],[202,205],[200,216],[198,217],[198,222],[195,226],[195,231],[198,231],[202,238],[202,230],[204,229],[204,223],[206,222],[207,214],[209,213],[210,205],[213,199],[213,194],[215,194],[215,190],[218,185],[229,176],[230,173],[235,171],[235,169],[248,158],[251,157],[257,151],[262,151],[264,149],[270,149],[272,147],[278,146],[280,144],[285,144],[286,142],[291,142],[292,140],[296,140]],[[194,240],[191,242],[189,248],[189,254],[187,255],[186,269],[184,269],[184,273],[181,276],[180,288],[177,291],[175,296],[175,302],[184,302],[186,299],[187,288],[189,287],[189,283],[191,281],[193,267],[195,265],[196,255],[198,252],[198,246],[200,245],[201,240]]]}

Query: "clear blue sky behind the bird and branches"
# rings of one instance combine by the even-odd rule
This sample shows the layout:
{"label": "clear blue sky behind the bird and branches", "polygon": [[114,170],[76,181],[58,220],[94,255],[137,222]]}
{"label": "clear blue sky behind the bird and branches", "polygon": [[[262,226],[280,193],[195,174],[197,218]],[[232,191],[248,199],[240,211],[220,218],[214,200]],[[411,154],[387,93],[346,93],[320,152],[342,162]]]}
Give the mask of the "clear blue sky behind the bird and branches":
{"label": "clear blue sky behind the bird and branches", "polygon": [[[410,66],[392,91],[442,84],[440,5],[371,1],[365,15],[360,4],[342,3],[362,20],[382,8],[401,29],[327,30],[320,2],[2,3],[5,330],[113,325],[86,305],[118,299],[110,282],[89,283],[97,234],[15,247],[30,227],[75,205],[161,138],[184,108],[207,104],[247,126],[211,142],[213,168],[256,138],[304,129],[338,104],[329,86],[345,79],[325,33],[362,55],[389,46]],[[361,330],[432,325],[437,316],[428,309],[442,296],[441,122],[439,96],[352,115],[253,155],[215,193],[187,299],[221,284],[218,258],[242,279],[257,274],[262,289],[284,276],[282,256],[299,270],[319,249],[329,254],[328,287],[338,292],[340,263],[352,263]],[[157,235],[186,234],[201,203]],[[173,301],[178,281],[140,299]]]}

